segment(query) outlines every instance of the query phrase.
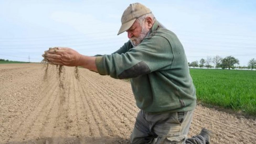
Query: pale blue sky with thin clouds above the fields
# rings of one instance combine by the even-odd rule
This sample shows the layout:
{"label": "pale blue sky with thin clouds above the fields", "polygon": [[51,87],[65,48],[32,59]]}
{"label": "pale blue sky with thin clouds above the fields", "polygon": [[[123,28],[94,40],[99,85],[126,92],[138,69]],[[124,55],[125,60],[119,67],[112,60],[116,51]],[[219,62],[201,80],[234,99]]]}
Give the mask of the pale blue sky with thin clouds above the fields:
{"label": "pale blue sky with thin clouds above the fields", "polygon": [[0,58],[41,61],[49,47],[84,55],[111,54],[128,38],[117,36],[130,3],[140,2],[177,34],[188,61],[234,56],[256,58],[256,1],[15,1],[0,0]]}

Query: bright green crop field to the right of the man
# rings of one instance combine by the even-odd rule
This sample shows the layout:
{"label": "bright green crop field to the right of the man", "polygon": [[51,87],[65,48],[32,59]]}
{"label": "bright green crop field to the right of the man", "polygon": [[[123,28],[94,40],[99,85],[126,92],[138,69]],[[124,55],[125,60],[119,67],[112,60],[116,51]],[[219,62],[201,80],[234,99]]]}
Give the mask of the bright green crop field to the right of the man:
{"label": "bright green crop field to the right of the man", "polygon": [[256,71],[190,69],[198,100],[256,115]]}

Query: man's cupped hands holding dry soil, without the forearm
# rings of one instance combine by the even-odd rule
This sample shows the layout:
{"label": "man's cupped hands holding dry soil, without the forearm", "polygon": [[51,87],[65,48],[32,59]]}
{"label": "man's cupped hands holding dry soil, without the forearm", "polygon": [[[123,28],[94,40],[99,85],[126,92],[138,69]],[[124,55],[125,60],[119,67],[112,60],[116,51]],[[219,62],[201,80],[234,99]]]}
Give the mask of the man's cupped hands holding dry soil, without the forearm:
{"label": "man's cupped hands holding dry soil, without the forearm", "polygon": [[68,47],[55,47],[45,51],[42,56],[50,63],[65,66],[78,66],[81,59],[81,55],[77,51]]}

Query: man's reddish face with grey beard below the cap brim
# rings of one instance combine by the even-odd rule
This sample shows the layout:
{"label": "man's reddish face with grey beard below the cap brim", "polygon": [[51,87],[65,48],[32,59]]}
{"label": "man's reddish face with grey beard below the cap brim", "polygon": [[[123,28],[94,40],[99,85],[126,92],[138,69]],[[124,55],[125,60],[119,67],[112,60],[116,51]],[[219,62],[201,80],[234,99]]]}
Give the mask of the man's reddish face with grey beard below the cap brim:
{"label": "man's reddish face with grey beard below the cap brim", "polygon": [[140,25],[140,23],[136,20],[131,28],[126,31],[128,38],[134,47],[139,45],[148,33],[149,30],[146,29],[145,25],[146,23]]}

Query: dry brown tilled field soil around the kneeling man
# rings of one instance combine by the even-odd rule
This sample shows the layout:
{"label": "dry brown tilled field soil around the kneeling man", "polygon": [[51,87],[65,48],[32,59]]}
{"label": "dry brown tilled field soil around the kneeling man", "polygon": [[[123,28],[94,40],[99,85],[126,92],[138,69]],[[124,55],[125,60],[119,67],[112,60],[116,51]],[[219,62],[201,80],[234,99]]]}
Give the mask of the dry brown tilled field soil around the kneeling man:
{"label": "dry brown tilled field soil around the kneeling man", "polygon": [[[0,143],[129,143],[138,108],[130,84],[79,68],[0,65]],[[63,88],[61,87],[63,84]],[[198,105],[189,136],[256,143],[256,121]]]}

